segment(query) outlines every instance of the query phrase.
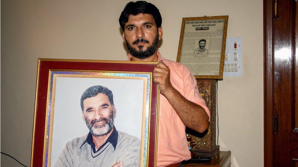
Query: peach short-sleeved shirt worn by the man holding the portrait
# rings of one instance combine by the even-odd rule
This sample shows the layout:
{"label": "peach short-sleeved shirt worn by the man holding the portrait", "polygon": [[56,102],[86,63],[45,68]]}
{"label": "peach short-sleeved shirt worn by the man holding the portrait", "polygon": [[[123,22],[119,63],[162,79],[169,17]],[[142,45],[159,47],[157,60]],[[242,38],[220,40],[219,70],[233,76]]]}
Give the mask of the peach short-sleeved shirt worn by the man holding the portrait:
{"label": "peach short-sleeved shirt worn by the man holding the portrait", "polygon": [[[161,61],[170,68],[170,82],[173,87],[187,100],[202,106],[208,114],[210,121],[210,111],[204,99],[199,94],[197,81],[189,69],[183,64],[163,58],[158,51],[157,55],[158,62]],[[130,61],[131,57],[132,55],[128,54],[126,61]],[[171,165],[191,158],[186,140],[185,125],[162,94],[159,97],[157,145],[158,167]]]}

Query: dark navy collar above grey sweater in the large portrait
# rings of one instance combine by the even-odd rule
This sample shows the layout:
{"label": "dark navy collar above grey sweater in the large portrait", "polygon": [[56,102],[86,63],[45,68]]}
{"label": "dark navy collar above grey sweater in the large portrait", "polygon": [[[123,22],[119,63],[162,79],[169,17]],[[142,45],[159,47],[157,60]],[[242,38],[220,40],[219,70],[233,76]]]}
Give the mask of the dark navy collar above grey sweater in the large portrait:
{"label": "dark navy collar above grey sweater in the large portrait", "polygon": [[[108,142],[112,144],[112,146],[114,147],[114,150],[115,150],[116,149],[116,145],[118,143],[118,131],[116,130],[115,126],[113,128],[113,131],[112,131],[111,135],[107,138],[107,141],[103,145],[101,145],[100,148],[97,151],[99,151],[101,148],[103,148]],[[91,145],[91,148],[92,148],[93,152],[97,152],[96,151],[96,148],[95,148],[95,144],[94,144],[93,139],[92,139],[91,132],[88,133],[87,138],[83,142],[83,144],[81,145],[81,147],[85,143],[88,143],[89,145]]]}

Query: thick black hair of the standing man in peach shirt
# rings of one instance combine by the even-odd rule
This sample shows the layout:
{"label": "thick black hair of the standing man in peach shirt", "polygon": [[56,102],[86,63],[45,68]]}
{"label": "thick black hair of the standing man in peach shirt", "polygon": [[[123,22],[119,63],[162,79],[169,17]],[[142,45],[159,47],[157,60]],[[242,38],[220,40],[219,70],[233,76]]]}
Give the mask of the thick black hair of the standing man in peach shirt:
{"label": "thick black hair of the standing man in peach shirt", "polygon": [[119,23],[124,31],[124,23],[128,22],[129,15],[138,15],[140,13],[143,14],[151,14],[155,21],[157,28],[162,26],[162,16],[160,15],[159,10],[157,7],[149,2],[146,1],[136,1],[136,2],[128,2],[121,15],[119,17]]}

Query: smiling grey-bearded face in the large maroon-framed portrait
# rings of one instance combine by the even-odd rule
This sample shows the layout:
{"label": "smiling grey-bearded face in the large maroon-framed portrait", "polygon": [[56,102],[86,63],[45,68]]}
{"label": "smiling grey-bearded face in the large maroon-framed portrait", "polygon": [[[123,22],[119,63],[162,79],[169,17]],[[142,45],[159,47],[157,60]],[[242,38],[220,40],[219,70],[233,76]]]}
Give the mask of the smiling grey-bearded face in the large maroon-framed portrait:
{"label": "smiling grey-bearded face in the large maroon-framed portrait", "polygon": [[108,134],[114,126],[116,108],[103,93],[83,101],[83,119],[93,136]]}

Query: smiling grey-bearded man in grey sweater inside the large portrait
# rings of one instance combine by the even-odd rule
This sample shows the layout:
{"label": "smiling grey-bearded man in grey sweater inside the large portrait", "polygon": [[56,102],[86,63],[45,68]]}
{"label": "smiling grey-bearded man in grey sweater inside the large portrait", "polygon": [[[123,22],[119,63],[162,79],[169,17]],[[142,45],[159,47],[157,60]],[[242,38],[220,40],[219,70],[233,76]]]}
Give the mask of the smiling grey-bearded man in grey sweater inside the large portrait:
{"label": "smiling grey-bearded man in grey sweater inside the large portrait", "polygon": [[82,118],[89,133],[66,143],[55,166],[139,166],[140,139],[114,126],[113,93],[91,86],[81,96]]}

